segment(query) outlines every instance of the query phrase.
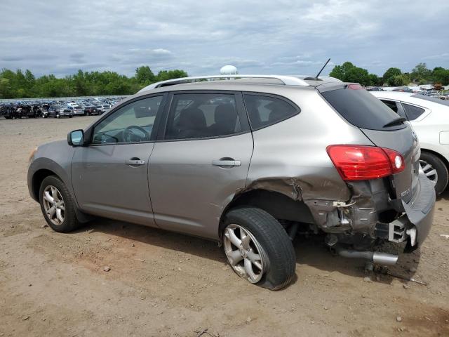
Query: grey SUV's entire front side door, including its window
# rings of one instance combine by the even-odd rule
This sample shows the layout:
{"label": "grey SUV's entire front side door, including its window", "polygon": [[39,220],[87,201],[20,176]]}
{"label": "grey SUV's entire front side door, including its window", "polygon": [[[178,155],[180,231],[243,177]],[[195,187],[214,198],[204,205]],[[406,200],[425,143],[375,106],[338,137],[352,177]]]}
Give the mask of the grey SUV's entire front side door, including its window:
{"label": "grey SUV's entire front side door, including its window", "polygon": [[88,132],[90,146],[75,149],[72,185],[83,211],[155,225],[148,163],[164,97],[152,95],[120,105]]}

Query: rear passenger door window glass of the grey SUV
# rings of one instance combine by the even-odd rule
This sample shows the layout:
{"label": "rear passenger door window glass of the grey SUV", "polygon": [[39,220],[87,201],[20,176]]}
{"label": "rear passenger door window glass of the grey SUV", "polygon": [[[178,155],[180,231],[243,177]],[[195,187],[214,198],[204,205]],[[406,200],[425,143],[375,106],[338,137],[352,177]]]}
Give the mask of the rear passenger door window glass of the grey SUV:
{"label": "rear passenger door window glass of the grey SUV", "polygon": [[233,93],[175,93],[166,140],[229,136],[242,131]]}

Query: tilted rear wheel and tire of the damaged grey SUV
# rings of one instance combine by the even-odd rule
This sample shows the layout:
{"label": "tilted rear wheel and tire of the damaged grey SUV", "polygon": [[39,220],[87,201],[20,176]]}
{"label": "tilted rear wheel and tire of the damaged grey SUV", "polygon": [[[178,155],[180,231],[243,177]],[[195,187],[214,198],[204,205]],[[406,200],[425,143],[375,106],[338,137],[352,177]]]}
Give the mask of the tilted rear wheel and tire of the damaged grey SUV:
{"label": "tilted rear wheel and tire of the damaged grey SUV", "polygon": [[[232,209],[225,216],[222,234],[228,263],[243,279],[274,291],[293,281],[296,267],[293,244],[279,221],[266,211],[254,207]],[[232,239],[240,240],[240,249],[234,244],[238,241],[232,243]],[[248,248],[243,242],[247,242]],[[247,263],[250,272],[246,272]]]}

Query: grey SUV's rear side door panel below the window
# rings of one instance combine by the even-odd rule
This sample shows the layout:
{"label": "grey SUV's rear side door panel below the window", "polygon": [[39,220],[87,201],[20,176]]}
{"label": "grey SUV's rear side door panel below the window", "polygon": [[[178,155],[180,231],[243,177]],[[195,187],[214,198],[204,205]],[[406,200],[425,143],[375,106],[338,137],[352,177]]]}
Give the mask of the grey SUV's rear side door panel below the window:
{"label": "grey SUV's rear side door panel below the window", "polygon": [[149,166],[156,224],[217,239],[223,209],[246,186],[252,153],[251,133],[156,143]]}

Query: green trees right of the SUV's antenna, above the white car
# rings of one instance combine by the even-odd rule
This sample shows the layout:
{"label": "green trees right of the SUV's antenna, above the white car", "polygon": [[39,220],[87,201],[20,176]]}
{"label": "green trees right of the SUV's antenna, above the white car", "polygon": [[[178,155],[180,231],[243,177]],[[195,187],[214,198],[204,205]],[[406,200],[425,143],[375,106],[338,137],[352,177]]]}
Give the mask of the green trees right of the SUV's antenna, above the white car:
{"label": "green trees right of the SUV's antenna, above the white car", "polygon": [[449,84],[449,69],[435,67],[429,70],[425,63],[419,63],[412,72],[401,72],[399,68],[391,67],[378,77],[370,74],[368,70],[356,67],[351,62],[336,65],[329,76],[341,79],[344,82],[357,82],[363,86],[406,86],[410,83],[416,85],[433,84],[434,86],[446,86]]}

